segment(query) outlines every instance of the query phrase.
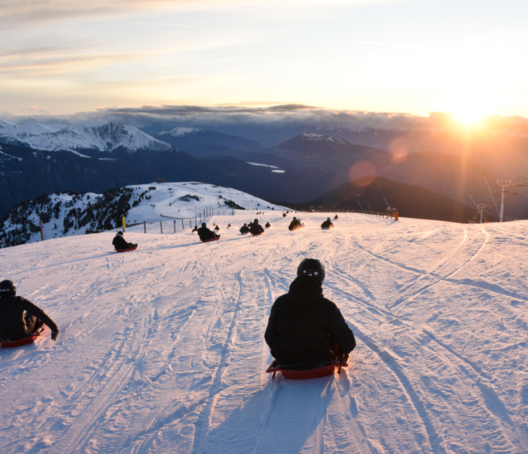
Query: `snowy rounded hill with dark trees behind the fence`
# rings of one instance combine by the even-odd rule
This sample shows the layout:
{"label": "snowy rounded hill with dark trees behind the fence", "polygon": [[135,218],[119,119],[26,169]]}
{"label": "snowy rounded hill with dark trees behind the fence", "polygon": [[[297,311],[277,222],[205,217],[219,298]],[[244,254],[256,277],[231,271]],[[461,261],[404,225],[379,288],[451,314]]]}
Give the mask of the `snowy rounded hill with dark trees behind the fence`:
{"label": "snowy rounded hill with dark trees behind the fence", "polygon": [[192,218],[194,225],[212,210],[225,214],[235,208],[283,211],[282,206],[216,184],[135,184],[104,194],[53,193],[25,201],[0,220],[0,242],[17,246],[40,241],[41,221],[44,239],[51,239],[85,234],[86,230],[112,230],[115,219],[122,216],[126,224]]}

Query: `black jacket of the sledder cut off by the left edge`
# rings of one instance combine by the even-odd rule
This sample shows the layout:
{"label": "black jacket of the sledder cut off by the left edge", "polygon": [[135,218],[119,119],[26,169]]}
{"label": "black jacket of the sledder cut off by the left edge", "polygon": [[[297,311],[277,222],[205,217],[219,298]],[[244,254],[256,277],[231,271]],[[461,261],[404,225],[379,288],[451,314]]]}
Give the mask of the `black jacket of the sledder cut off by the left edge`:
{"label": "black jacket of the sledder cut off by the left edge", "polygon": [[0,298],[0,338],[18,338],[25,335],[24,311],[43,321],[52,331],[58,331],[55,322],[39,306],[21,296]]}

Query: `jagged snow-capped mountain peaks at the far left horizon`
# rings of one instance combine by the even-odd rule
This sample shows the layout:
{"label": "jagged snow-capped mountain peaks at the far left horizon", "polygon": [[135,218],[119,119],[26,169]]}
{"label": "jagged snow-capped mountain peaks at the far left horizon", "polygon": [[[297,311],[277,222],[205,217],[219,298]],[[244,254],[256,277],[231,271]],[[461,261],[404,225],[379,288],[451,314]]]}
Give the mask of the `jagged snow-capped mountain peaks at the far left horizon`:
{"label": "jagged snow-capped mountain peaks at the far left horizon", "polygon": [[148,136],[136,127],[115,122],[95,126],[41,125],[36,122],[16,125],[11,122],[1,122],[0,140],[45,151],[75,152],[90,149],[111,152],[120,147],[128,151],[173,149],[166,142]]}

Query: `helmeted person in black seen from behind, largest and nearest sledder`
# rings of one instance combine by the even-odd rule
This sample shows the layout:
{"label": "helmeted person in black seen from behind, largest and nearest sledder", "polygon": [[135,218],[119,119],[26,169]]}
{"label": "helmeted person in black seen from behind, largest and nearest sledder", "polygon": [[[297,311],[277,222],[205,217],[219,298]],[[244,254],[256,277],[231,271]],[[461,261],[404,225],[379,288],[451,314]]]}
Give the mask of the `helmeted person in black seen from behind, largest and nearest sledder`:
{"label": "helmeted person in black seen from behind, largest and nearest sledder", "polygon": [[338,306],[322,294],[324,279],[325,266],[304,259],[289,292],[276,299],[264,338],[278,365],[309,369],[331,363],[336,348],[344,354],[355,348]]}

